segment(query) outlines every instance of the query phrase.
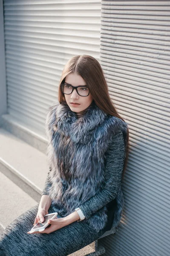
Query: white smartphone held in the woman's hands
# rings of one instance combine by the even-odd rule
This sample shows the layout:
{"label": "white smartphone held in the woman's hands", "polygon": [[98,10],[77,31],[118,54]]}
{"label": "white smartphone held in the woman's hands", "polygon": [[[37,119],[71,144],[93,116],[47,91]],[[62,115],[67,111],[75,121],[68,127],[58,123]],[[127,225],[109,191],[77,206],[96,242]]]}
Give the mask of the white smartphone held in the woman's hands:
{"label": "white smartphone held in the woman's hands", "polygon": [[44,221],[43,223],[41,223],[41,221],[38,221],[37,224],[35,224],[34,227],[32,227],[32,229],[29,231],[30,233],[34,233],[36,231],[43,231],[45,230],[46,227],[50,227],[51,224],[48,224],[48,220],[53,220],[54,218],[56,218],[58,215],[58,212],[53,212],[53,213],[49,213],[49,214],[46,214],[44,216]]}

